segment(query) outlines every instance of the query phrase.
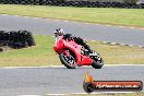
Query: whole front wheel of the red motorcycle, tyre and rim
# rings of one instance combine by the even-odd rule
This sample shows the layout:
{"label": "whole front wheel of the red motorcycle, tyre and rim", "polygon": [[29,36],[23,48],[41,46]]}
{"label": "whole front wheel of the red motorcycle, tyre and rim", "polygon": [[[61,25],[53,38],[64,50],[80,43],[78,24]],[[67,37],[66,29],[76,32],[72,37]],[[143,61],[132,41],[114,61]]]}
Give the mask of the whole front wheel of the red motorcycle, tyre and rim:
{"label": "whole front wheel of the red motorcycle, tyre and rim", "polygon": [[76,62],[74,57],[70,53],[67,56],[64,52],[61,52],[59,55],[60,61],[62,64],[64,64],[68,69],[75,69]]}

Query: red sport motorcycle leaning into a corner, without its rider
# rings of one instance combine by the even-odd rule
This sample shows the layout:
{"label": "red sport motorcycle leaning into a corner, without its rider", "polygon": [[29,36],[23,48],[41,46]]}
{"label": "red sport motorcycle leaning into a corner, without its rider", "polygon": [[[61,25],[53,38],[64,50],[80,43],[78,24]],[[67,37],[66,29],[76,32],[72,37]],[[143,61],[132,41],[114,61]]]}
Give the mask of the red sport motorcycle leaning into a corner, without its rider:
{"label": "red sport motorcycle leaning into a corner, without its rider", "polygon": [[75,69],[76,65],[92,65],[95,69],[100,69],[104,65],[99,53],[94,51],[91,56],[83,46],[77,45],[72,38],[63,39],[63,36],[57,36],[53,50],[68,69]]}

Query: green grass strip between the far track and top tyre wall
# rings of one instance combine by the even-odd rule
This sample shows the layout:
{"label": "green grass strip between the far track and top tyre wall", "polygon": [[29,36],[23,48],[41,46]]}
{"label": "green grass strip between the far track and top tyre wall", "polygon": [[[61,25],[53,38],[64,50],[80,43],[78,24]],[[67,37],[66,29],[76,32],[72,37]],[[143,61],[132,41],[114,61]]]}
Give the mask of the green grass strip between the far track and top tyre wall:
{"label": "green grass strip between the far track and top tyre wall", "polygon": [[0,4],[0,14],[27,15],[88,23],[144,26],[143,9]]}

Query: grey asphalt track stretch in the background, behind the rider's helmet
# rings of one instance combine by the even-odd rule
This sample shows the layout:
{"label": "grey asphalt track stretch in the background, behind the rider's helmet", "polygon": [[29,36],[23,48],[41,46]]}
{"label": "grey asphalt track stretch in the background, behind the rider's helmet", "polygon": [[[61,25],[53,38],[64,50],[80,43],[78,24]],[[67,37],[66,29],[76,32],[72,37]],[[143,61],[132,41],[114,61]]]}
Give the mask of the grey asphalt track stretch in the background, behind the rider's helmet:
{"label": "grey asphalt track stretch in the background, behind the rider's helmet", "polygon": [[4,31],[27,29],[34,34],[52,35],[53,31],[58,27],[62,27],[67,33],[72,33],[86,39],[144,46],[144,29],[49,19],[0,15],[0,29]]}

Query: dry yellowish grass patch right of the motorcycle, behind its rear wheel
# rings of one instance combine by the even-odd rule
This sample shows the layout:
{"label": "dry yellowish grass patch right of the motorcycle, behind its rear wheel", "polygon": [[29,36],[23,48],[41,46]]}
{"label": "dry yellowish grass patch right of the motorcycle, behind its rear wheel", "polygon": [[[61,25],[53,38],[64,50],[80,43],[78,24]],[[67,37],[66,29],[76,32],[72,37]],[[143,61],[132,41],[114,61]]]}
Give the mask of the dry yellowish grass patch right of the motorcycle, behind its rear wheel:
{"label": "dry yellowish grass patch right of the motorcycle, behind its rear wheel", "polygon": [[144,48],[105,45],[98,41],[88,44],[104,57],[105,63],[144,63]]}

